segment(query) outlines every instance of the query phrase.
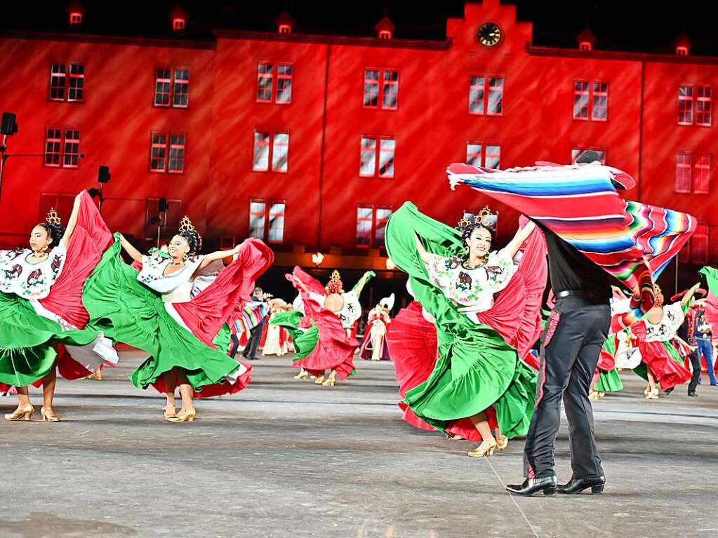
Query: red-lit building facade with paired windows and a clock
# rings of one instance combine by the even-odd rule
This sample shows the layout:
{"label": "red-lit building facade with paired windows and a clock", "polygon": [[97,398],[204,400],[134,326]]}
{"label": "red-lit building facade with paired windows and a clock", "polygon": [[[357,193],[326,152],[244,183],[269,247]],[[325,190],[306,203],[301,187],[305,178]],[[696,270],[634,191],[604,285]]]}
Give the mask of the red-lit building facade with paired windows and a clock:
{"label": "red-lit building facade with paired windows and a clock", "polygon": [[[215,32],[208,42],[0,36],[0,109],[19,133],[0,192],[0,242],[111,168],[102,212],[154,241],[189,214],[222,246],[264,237],[279,265],[385,269],[383,223],[406,200],[444,222],[490,204],[449,190],[454,161],[568,163],[585,149],[638,182],[628,197],[698,217],[686,263],[718,261],[712,90],[718,58],[531,44],[498,0],[468,3],[443,41]],[[174,24],[174,23],[173,23]],[[497,37],[498,36],[498,37]],[[683,52],[687,54],[684,55]],[[84,155],[81,157],[80,155]],[[154,220],[153,220],[153,217]]]}

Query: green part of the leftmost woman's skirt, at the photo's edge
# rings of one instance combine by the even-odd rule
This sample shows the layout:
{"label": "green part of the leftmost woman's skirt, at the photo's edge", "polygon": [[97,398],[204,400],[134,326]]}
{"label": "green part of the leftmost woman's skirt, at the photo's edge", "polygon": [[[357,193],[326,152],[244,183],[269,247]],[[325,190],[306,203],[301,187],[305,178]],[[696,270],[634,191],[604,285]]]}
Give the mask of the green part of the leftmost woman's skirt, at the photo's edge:
{"label": "green part of the leftmost woman's skirt, at the photo's edge", "polygon": [[98,337],[92,329],[62,331],[39,316],[27,299],[0,292],[0,383],[25,387],[55,367],[57,344],[85,346]]}

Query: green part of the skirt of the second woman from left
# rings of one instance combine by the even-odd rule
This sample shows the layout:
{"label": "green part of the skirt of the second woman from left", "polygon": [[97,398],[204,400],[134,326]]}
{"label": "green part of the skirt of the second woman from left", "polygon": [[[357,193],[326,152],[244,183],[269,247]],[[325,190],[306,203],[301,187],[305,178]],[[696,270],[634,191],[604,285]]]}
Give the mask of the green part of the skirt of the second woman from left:
{"label": "green part of the skirt of the second woman from left", "polygon": [[[88,326],[150,355],[131,375],[135,387],[146,389],[179,367],[201,392],[236,372],[240,364],[223,352],[226,346],[213,349],[174,321],[162,298],[137,281],[137,271],[122,261],[120,249],[116,237],[85,283],[83,303],[90,313]],[[228,341],[227,336],[221,331],[215,342]]]}

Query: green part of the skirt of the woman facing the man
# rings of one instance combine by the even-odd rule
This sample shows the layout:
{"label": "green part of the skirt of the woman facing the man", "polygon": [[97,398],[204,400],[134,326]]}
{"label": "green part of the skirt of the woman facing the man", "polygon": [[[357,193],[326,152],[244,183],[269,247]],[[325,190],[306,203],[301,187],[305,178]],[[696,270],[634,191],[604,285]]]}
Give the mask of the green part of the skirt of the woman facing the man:
{"label": "green part of the skirt of the woman facing the man", "polygon": [[498,332],[458,312],[429,281],[414,234],[429,253],[452,256],[463,250],[457,230],[426,217],[409,202],[386,225],[388,255],[408,273],[416,301],[434,316],[437,327],[434,370],[429,379],[406,392],[403,403],[444,433],[455,420],[493,408],[503,435],[526,435],[533,416],[536,373],[518,360],[516,350]]}

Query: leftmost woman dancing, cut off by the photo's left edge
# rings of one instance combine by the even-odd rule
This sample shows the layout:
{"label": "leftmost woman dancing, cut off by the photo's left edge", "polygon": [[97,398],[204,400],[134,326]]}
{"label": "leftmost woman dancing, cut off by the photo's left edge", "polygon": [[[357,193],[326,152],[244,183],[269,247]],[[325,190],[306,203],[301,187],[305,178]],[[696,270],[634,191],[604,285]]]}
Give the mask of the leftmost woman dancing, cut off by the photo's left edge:
{"label": "leftmost woman dancing, cut off by the photo's left edge", "polygon": [[42,420],[58,422],[52,409],[57,370],[78,379],[106,360],[117,362],[103,334],[78,329],[88,321],[83,283],[110,240],[83,191],[66,228],[51,209],[47,222],[33,228],[29,249],[0,250],[0,384],[17,387],[18,395],[6,420],[30,420],[28,385],[42,384]]}

